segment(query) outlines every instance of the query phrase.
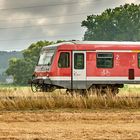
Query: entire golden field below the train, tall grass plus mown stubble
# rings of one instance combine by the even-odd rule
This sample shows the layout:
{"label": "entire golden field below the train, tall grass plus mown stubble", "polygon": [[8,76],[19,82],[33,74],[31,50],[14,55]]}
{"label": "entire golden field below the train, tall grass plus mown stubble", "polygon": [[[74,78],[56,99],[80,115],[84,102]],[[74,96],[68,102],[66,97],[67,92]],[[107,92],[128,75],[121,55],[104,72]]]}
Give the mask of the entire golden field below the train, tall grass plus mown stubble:
{"label": "entire golden field below the train, tall grass plus mown stubble", "polygon": [[140,139],[140,87],[116,97],[0,88],[0,139]]}

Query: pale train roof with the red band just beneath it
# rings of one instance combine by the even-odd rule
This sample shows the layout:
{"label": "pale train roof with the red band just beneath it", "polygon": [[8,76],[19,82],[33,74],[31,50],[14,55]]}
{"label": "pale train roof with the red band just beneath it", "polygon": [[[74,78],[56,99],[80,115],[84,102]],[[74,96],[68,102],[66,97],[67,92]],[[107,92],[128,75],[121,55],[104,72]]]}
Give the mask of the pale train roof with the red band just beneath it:
{"label": "pale train roof with the red band just beneath it", "polygon": [[60,50],[140,50],[140,42],[68,41],[43,47]]}

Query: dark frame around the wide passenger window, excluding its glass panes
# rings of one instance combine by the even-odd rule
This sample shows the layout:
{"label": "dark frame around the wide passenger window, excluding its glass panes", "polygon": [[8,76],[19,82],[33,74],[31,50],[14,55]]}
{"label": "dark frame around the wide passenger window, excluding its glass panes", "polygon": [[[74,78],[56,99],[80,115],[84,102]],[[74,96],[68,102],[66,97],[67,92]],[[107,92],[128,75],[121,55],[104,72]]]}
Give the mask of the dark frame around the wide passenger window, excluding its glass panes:
{"label": "dark frame around the wide passenger window, excluding its glass panes", "polygon": [[[98,57],[98,55],[99,54],[111,54],[112,55],[112,57]],[[101,66],[99,66],[98,65],[98,59],[99,58],[111,58],[112,60],[112,66],[111,67],[101,67]],[[103,68],[103,69],[112,69],[113,67],[114,67],[114,53],[112,53],[112,52],[98,52],[98,53],[96,53],[96,67],[97,68]]]}

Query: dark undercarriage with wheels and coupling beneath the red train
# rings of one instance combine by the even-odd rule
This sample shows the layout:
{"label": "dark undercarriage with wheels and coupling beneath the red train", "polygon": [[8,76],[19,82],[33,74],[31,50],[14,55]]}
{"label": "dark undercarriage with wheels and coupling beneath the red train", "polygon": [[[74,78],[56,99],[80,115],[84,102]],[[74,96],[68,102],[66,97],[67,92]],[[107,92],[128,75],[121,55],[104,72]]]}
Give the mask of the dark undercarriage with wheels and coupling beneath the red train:
{"label": "dark undercarriage with wheels and coupling beneath the red train", "polygon": [[[53,92],[56,89],[64,89],[64,87],[56,86],[52,84],[45,84],[43,81],[30,81],[31,90],[33,92]],[[93,84],[88,89],[66,89],[66,94],[79,94],[79,95],[91,95],[97,96],[111,95],[115,96],[119,93],[119,88],[123,88],[123,84]]]}

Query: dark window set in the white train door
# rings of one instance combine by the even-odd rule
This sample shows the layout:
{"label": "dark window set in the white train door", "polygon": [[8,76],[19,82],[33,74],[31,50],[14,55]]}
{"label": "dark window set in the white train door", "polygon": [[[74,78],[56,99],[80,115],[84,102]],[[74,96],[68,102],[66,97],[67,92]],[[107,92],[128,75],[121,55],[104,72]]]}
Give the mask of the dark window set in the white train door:
{"label": "dark window set in the white train door", "polygon": [[74,54],[74,68],[84,69],[84,54],[83,53]]}

